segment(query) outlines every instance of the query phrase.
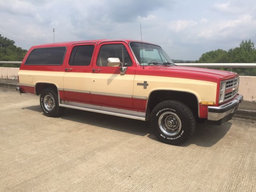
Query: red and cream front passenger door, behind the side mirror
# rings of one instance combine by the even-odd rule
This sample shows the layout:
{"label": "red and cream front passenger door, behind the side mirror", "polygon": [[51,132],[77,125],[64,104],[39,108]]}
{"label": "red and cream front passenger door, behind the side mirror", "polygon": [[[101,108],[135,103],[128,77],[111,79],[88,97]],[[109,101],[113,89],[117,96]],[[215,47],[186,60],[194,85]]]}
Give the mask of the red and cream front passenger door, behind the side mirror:
{"label": "red and cream front passenger door, behind the side mirror", "polygon": [[[128,45],[125,42],[104,42],[98,45],[97,53],[92,66],[92,102],[99,106],[132,110],[136,64]],[[119,58],[127,67],[126,73],[120,74],[120,66],[108,66],[108,58]]]}

